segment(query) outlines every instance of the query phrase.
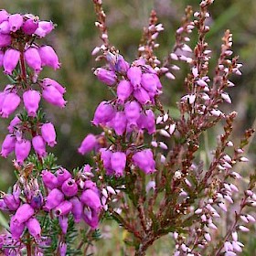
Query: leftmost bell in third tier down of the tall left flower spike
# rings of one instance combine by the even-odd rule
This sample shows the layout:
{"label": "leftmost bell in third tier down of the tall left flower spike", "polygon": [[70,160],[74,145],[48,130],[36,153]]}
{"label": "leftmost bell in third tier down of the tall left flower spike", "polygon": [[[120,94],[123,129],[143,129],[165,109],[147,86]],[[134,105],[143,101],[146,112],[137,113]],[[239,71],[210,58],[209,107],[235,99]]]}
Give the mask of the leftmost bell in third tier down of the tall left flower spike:
{"label": "leftmost bell in third tier down of the tall left flower spike", "polygon": [[20,98],[15,92],[9,92],[5,94],[5,99],[2,102],[0,114],[4,118],[8,118],[9,115],[16,111],[20,103]]}

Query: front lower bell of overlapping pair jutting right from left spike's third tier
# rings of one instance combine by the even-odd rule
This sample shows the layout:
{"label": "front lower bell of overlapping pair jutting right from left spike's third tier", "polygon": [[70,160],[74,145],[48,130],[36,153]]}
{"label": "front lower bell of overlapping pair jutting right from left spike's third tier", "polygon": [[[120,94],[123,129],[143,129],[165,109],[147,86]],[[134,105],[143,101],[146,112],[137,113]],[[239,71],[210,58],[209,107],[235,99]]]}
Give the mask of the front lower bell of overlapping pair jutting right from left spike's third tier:
{"label": "front lower bell of overlapping pair jutting right from left spike's third tier", "polygon": [[67,101],[64,100],[63,94],[58,91],[54,86],[48,85],[43,88],[42,92],[43,98],[50,104],[64,108]]}

